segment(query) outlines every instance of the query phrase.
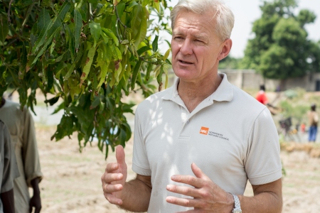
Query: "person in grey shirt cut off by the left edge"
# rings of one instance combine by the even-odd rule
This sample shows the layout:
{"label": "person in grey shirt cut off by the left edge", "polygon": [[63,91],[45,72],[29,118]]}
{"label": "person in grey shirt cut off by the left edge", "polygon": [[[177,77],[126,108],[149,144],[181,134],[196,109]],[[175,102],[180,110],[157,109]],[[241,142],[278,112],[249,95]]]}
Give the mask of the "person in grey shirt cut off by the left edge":
{"label": "person in grey shirt cut off by the left edge", "polygon": [[16,157],[8,128],[0,120],[0,212],[14,213],[14,178],[18,177]]}

